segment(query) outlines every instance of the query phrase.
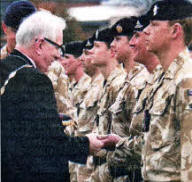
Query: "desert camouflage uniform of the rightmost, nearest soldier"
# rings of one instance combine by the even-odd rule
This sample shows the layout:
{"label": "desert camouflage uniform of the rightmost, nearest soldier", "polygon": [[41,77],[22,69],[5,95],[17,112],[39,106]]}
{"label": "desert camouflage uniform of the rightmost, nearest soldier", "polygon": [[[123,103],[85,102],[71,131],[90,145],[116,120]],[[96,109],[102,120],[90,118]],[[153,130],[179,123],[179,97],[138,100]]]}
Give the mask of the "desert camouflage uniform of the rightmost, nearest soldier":
{"label": "desert camouflage uniform of the rightmost, nearest soldier", "polygon": [[151,94],[145,110],[142,151],[146,181],[192,181],[191,74],[192,59],[186,49]]}

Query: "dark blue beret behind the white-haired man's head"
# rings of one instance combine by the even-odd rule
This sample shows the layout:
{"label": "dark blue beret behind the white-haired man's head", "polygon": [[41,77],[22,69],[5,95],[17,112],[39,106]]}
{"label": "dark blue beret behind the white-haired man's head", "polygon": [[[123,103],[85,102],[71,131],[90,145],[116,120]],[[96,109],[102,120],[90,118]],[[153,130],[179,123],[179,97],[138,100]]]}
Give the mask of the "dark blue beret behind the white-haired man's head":
{"label": "dark blue beret behind the white-haired man's head", "polygon": [[36,8],[31,2],[16,1],[7,7],[3,21],[7,26],[17,30],[23,18],[31,15],[35,11]]}

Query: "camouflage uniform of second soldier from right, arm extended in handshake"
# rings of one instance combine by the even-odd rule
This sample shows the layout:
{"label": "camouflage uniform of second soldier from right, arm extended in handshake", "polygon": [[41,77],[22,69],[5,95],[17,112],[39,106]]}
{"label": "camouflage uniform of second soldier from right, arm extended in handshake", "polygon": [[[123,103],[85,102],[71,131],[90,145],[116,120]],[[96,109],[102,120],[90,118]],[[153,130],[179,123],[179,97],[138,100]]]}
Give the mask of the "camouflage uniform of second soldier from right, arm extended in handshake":
{"label": "camouflage uniform of second soldier from right, arm extended in handshake", "polygon": [[[137,181],[137,173],[131,173],[130,171],[141,169],[141,147],[143,143],[142,134],[142,121],[144,119],[144,108],[146,100],[151,92],[151,86],[161,77],[162,67],[158,65],[154,70],[154,74],[148,76],[147,82],[143,90],[140,90],[139,99],[133,109],[133,117],[128,134],[130,137],[123,138],[117,145],[113,154],[107,158],[107,162],[110,168],[111,175],[118,176],[123,174],[129,174],[129,181]],[[138,97],[137,97],[138,98]],[[127,171],[127,172],[126,172]],[[128,176],[127,176],[128,177]],[[132,177],[132,178],[131,178]],[[126,177],[125,177],[126,178]],[[116,178],[115,181],[119,181]]]}

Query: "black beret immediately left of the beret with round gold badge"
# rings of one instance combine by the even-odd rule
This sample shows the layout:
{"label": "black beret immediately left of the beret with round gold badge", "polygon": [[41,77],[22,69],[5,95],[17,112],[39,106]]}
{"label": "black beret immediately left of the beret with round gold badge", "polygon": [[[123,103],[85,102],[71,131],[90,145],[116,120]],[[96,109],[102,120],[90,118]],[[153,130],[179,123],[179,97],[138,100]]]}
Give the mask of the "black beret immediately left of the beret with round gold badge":
{"label": "black beret immediately left of the beret with round gold badge", "polygon": [[114,39],[114,36],[110,28],[100,29],[95,32],[94,41],[101,41],[101,42],[106,42],[108,44],[111,44],[113,39]]}

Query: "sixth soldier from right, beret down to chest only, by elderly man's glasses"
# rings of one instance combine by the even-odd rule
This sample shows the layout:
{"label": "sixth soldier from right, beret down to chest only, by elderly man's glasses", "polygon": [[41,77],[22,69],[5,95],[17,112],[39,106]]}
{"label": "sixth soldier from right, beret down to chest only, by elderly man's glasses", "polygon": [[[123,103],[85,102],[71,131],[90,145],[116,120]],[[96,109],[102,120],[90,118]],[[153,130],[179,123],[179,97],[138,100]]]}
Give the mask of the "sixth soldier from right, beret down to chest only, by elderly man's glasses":
{"label": "sixth soldier from right, beret down to chest only, by elderly man's glasses", "polygon": [[90,77],[83,71],[80,61],[84,44],[83,41],[68,43],[65,46],[64,60],[62,61],[71,82],[71,98],[75,107],[83,101],[91,82]]}

